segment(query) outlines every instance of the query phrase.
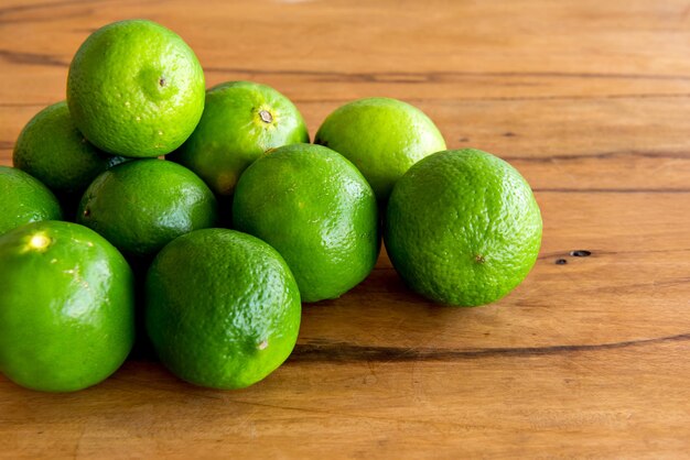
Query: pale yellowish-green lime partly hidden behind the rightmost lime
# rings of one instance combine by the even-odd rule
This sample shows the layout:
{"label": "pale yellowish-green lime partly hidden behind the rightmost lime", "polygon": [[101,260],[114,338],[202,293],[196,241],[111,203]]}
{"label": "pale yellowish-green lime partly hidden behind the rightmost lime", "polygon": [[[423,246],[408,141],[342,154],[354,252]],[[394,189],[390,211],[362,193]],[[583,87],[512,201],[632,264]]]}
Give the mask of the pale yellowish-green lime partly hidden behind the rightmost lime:
{"label": "pale yellowish-green lime partly hidden behind the rightmost lime", "polygon": [[410,166],[445,150],[441,132],[424,112],[390,98],[358,99],[339,107],[321,124],[314,143],[353,162],[381,201]]}

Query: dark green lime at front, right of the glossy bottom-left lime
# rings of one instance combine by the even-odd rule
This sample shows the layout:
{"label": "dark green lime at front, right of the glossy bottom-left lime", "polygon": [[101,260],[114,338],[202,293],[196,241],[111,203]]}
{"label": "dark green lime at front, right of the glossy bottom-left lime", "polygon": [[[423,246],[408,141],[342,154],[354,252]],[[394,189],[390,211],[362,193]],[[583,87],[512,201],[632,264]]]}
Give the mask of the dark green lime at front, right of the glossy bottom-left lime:
{"label": "dark green lime at front, right of the glossy bottom-left lime", "polygon": [[300,315],[280,254],[234,230],[177,238],[147,276],[151,342],[168,369],[197,385],[241,388],[266,377],[292,352]]}

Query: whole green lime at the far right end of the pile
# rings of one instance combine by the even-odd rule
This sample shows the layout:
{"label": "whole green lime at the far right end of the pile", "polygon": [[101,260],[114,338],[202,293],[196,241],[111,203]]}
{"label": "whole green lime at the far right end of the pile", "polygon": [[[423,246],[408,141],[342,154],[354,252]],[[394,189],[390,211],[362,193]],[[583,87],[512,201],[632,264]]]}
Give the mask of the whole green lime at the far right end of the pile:
{"label": "whole green lime at the far right end of the pile", "polygon": [[444,151],[396,184],[384,242],[413,291],[444,304],[484,305],[529,273],[541,244],[541,213],[508,163],[473,149]]}

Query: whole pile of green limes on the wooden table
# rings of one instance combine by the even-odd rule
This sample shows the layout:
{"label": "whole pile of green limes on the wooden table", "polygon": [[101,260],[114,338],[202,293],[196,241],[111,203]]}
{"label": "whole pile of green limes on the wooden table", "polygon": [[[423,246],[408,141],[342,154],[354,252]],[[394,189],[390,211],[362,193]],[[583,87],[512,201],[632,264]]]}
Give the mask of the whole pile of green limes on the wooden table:
{"label": "whole pile of green limes on the wooden table", "polygon": [[381,233],[406,284],[439,303],[494,302],[533,265],[529,185],[488,153],[445,150],[419,109],[356,100],[309,141],[268,86],[206,90],[170,30],[94,32],[66,101],[37,113],[14,167],[0,167],[0,372],[84,388],[139,333],[180,377],[244,387],[289,357],[302,302],[367,277]]}

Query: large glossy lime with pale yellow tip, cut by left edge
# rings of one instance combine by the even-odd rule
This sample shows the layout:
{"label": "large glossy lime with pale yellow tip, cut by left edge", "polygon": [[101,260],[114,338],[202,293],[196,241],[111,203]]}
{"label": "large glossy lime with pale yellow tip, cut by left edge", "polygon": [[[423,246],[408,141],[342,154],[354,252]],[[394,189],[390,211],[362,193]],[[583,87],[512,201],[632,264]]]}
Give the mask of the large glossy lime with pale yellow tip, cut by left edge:
{"label": "large glossy lime with pale yellow tip, cut by left edge", "polygon": [[0,237],[0,371],[47,392],[94,385],[134,340],[132,274],[96,232],[34,222]]}

